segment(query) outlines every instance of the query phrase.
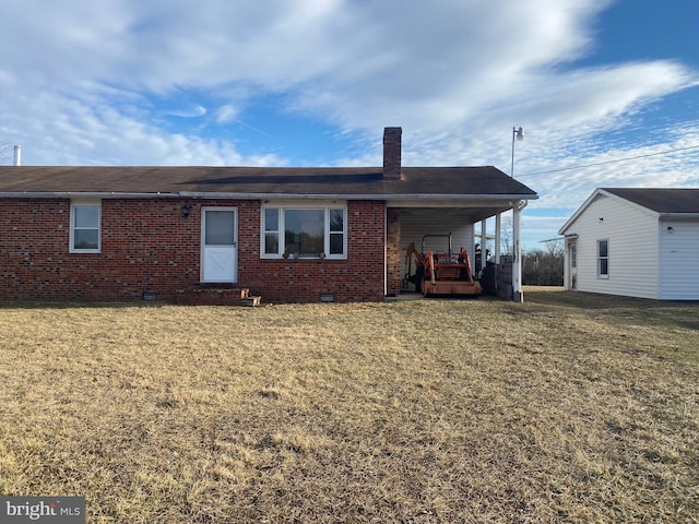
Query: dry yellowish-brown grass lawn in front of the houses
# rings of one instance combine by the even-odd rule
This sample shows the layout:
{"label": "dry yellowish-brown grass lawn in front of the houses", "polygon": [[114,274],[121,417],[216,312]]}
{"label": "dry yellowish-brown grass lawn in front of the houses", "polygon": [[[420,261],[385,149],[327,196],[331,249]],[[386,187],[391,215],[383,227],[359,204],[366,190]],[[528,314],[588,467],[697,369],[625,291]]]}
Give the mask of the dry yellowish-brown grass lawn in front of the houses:
{"label": "dry yellowish-brown grass lawn in front of the houses", "polygon": [[0,307],[0,493],[90,523],[699,522],[699,305]]}

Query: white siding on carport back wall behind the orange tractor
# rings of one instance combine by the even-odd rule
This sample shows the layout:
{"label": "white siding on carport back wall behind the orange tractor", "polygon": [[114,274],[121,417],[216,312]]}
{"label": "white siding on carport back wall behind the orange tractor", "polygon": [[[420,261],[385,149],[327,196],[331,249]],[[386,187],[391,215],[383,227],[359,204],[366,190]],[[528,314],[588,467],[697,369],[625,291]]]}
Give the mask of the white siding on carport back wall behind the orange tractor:
{"label": "white siding on carport back wall behind the orange tractor", "polygon": [[[470,223],[465,213],[440,209],[401,210],[402,274],[405,275],[407,272],[405,250],[412,242],[415,242],[415,247],[420,251],[425,235],[449,235],[450,233],[452,250],[458,253],[462,246],[465,247],[469,251],[469,257],[471,257],[471,263],[474,264],[473,224]],[[448,246],[447,242],[447,239],[441,238],[427,239],[425,251],[428,249],[445,251]],[[415,261],[413,261],[412,270],[415,273]]]}

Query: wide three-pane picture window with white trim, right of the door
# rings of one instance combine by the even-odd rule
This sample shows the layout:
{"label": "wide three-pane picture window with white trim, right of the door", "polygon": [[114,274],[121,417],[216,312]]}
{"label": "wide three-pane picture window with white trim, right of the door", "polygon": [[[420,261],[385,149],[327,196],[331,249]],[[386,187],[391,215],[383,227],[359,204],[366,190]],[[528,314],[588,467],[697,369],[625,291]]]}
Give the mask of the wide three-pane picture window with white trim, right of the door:
{"label": "wide three-pane picture window with white trim, right of the door", "polygon": [[262,258],[346,259],[347,210],[337,206],[262,207]]}

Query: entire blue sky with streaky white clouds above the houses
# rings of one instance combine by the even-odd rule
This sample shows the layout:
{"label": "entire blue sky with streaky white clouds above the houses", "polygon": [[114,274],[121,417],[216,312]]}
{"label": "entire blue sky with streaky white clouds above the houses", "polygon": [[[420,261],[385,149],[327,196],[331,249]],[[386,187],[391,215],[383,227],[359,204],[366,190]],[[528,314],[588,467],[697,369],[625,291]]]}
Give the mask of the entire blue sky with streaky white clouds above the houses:
{"label": "entire blue sky with streaky white clouds above the houses", "polygon": [[0,144],[377,166],[401,126],[405,165],[509,172],[522,126],[536,248],[596,187],[699,187],[698,39],[696,0],[5,0]]}

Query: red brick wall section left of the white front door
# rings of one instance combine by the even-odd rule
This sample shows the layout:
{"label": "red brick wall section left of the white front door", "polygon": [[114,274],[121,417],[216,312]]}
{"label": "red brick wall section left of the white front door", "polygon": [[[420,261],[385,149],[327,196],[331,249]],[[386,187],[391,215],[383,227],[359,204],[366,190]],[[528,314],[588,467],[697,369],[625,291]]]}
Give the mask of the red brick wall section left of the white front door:
{"label": "red brick wall section left of the white front door", "polygon": [[[103,200],[102,250],[70,253],[70,200],[3,200],[0,297],[171,297],[199,282],[198,217],[176,200]],[[193,215],[193,213],[192,213]]]}

